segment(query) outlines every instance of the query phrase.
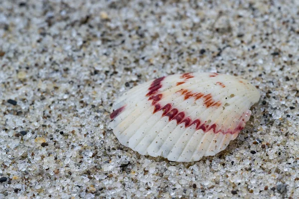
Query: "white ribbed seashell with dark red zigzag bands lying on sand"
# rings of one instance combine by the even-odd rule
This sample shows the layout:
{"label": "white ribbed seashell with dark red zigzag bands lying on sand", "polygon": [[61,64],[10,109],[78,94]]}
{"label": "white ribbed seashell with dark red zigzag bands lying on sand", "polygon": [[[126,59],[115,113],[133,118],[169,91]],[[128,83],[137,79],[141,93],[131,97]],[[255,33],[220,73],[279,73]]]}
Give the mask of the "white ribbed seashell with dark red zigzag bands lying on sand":
{"label": "white ribbed seashell with dark red zigzag bands lying on sand", "polygon": [[123,145],[170,161],[198,161],[224,150],[260,99],[248,81],[218,73],[157,78],[114,103],[110,127]]}

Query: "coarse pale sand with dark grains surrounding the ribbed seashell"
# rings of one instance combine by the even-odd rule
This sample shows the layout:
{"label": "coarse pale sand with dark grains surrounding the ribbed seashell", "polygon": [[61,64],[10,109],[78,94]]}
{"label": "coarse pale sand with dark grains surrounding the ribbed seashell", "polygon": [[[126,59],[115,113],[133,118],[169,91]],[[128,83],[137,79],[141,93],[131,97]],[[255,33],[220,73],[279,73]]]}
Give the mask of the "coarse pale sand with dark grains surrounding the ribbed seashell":
{"label": "coarse pale sand with dark grains surrounding the ribbed seashell", "polygon": [[[0,198],[299,198],[299,1],[0,0]],[[175,163],[122,146],[116,98],[218,72],[261,93],[229,147]]]}

